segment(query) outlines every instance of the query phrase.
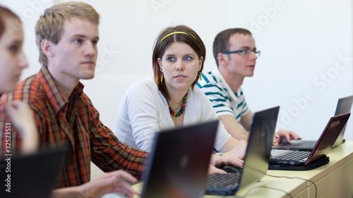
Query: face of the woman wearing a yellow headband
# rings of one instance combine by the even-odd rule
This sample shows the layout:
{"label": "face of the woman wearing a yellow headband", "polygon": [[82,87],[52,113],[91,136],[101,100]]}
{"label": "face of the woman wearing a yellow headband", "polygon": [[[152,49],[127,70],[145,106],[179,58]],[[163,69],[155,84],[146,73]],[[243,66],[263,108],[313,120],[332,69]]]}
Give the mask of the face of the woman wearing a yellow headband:
{"label": "face of the woman wearing a yellow headband", "polygon": [[184,42],[171,44],[164,51],[162,59],[158,58],[168,92],[175,90],[186,92],[196,80],[202,63],[203,57],[199,59],[196,51],[188,44]]}

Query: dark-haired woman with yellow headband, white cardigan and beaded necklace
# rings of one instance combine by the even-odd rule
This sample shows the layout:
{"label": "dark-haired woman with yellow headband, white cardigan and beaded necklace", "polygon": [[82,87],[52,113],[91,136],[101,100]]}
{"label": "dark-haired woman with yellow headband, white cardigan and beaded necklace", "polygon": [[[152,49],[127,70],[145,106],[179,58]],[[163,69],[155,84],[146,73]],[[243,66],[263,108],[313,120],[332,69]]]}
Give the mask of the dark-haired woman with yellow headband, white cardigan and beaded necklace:
{"label": "dark-haired woman with yellow headband, white cardigan and beaded necklace", "polygon": [[[129,87],[119,106],[114,134],[121,142],[151,151],[155,132],[217,119],[209,99],[195,86],[205,53],[203,41],[189,27],[167,27],[160,33],[152,54],[154,78]],[[231,137],[220,123],[214,148],[242,159],[246,142]]]}

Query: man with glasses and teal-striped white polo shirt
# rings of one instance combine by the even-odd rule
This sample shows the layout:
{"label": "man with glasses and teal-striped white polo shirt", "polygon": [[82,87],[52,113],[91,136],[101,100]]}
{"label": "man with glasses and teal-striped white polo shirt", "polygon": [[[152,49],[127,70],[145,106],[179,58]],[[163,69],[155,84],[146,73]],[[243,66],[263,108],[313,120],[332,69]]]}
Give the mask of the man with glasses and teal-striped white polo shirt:
{"label": "man with glasses and teal-striped white polo shirt", "polygon": [[[213,56],[217,68],[203,73],[198,87],[210,99],[229,134],[238,140],[248,140],[253,113],[246,104],[241,85],[244,78],[253,76],[260,51],[256,49],[255,39],[249,30],[232,28],[215,37]],[[273,144],[300,139],[295,132],[280,130]]]}

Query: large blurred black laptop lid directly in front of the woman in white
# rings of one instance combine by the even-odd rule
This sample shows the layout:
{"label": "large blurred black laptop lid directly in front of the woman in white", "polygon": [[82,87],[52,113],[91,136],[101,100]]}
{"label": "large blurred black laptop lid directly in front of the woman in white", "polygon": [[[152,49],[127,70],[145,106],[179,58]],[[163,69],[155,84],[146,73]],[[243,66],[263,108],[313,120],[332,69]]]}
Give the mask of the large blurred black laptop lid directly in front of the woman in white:
{"label": "large blurred black laptop lid directly in front of the woman in white", "polygon": [[157,132],[141,197],[202,197],[218,122]]}

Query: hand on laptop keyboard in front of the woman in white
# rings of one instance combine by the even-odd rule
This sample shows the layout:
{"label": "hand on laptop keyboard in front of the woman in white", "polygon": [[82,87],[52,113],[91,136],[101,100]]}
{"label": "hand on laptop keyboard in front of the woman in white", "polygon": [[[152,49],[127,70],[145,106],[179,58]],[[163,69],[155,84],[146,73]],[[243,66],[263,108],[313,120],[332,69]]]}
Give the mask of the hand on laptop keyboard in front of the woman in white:
{"label": "hand on laptop keyboard in front of the woman in white", "polygon": [[232,163],[236,166],[243,167],[243,161],[241,159],[227,157],[227,156],[218,156],[213,154],[211,156],[210,166],[208,167],[208,174],[212,173],[226,173],[220,168],[216,168],[216,166],[220,166],[223,163]]}

